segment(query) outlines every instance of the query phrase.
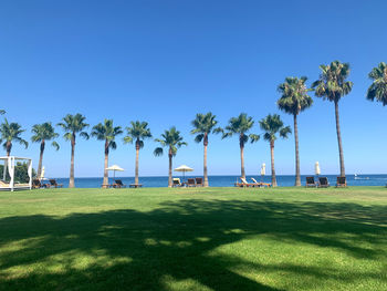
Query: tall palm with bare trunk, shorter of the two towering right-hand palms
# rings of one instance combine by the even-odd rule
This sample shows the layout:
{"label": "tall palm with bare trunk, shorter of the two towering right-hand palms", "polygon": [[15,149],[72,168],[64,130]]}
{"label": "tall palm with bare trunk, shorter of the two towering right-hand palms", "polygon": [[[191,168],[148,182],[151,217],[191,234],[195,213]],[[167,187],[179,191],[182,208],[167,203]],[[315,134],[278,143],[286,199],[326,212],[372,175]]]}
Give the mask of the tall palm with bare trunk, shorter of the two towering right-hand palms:
{"label": "tall palm with bare trunk, shorter of the two towering right-hand palms", "polygon": [[293,115],[294,123],[294,143],[295,143],[295,186],[301,186],[300,175],[300,153],[299,153],[299,125],[297,116],[301,112],[308,108],[313,104],[313,100],[307,92],[305,85],[307,77],[286,77],[285,82],[279,85],[279,92],[282,96],[276,102],[279,108],[285,113]]}

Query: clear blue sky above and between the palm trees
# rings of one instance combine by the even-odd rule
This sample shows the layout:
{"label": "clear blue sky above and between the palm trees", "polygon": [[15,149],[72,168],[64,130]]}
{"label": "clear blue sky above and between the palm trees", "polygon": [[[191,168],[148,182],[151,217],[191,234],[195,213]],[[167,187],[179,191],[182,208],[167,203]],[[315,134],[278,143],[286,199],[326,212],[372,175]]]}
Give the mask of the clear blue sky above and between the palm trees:
{"label": "clear blue sky above and between the palm trees", "polygon": [[[155,137],[171,125],[189,143],[175,166],[202,173],[202,145],[189,134],[198,112],[211,111],[224,126],[247,112],[255,121],[279,113],[276,86],[286,76],[318,76],[318,65],[349,62],[352,93],[341,106],[347,173],[386,173],[387,108],[366,101],[372,67],[387,61],[386,1],[2,1],[0,4],[0,107],[31,126],[67,113],[82,113],[91,125],[113,118],[117,125],[148,121]],[[302,174],[338,173],[334,106],[314,98],[300,116]],[[286,124],[292,117],[281,113]],[[60,129],[59,129],[60,131]],[[257,124],[254,133],[260,133]],[[62,135],[62,132],[61,132]],[[70,145],[46,147],[52,177],[66,177]],[[167,156],[156,144],[140,152],[140,175],[167,175]],[[2,150],[2,149],[1,149]],[[39,145],[14,145],[12,154],[38,164]],[[210,137],[209,173],[239,174],[237,137]],[[134,175],[133,145],[111,154]],[[247,145],[245,167],[258,174],[270,165],[266,142]],[[294,139],[278,141],[278,174],[294,174]],[[102,176],[103,143],[79,139],[77,177]]]}

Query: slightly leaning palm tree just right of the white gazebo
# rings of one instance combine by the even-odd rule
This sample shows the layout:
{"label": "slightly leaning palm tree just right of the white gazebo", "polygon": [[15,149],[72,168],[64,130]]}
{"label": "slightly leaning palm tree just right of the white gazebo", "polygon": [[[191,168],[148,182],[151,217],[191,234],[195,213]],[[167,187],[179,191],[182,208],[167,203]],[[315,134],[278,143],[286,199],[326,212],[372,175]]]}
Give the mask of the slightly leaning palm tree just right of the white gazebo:
{"label": "slightly leaning palm tree just right of the white gazebo", "polygon": [[[42,163],[43,163],[43,153],[45,147],[46,141],[52,141],[59,136],[57,133],[55,133],[54,127],[51,125],[51,123],[42,123],[42,124],[35,124],[32,126],[31,133],[33,134],[31,137],[32,143],[40,143],[40,157],[39,157],[39,166],[38,166],[38,177],[41,176],[42,173]],[[59,144],[53,141],[51,143],[53,147],[59,150]]]}

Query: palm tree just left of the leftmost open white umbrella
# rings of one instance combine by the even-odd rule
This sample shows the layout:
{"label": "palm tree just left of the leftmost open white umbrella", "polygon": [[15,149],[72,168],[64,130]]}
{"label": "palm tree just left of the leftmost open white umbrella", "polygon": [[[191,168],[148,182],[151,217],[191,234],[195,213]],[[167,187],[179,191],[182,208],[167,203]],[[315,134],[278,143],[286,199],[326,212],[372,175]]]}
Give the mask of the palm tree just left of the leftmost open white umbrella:
{"label": "palm tree just left of the leftmost open white umbrella", "polygon": [[103,179],[103,187],[107,188],[108,185],[108,174],[107,174],[107,167],[108,167],[108,152],[109,149],[116,149],[117,144],[115,142],[115,137],[117,135],[121,135],[123,131],[121,129],[121,126],[113,126],[112,119],[105,119],[104,123],[98,123],[95,125],[92,129],[91,135],[95,137],[98,141],[104,141],[104,153],[105,153],[105,159],[104,159],[104,179]]}

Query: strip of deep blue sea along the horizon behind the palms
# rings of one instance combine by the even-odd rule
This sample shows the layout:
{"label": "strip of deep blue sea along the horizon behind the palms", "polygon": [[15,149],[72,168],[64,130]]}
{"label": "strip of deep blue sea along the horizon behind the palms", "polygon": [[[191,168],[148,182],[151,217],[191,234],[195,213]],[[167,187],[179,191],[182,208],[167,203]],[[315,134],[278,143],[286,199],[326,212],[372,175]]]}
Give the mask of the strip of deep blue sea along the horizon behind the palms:
{"label": "strip of deep blue sea along the horizon behind the palms", "polygon": [[[175,176],[179,177],[179,176]],[[209,176],[209,184],[211,187],[233,187],[233,184],[240,176]],[[258,181],[261,181],[261,176],[247,176],[248,181],[251,181],[251,177],[255,178]],[[302,185],[305,185],[306,175],[301,176]],[[331,185],[336,184],[337,175],[327,175],[326,176]],[[387,184],[387,175],[358,175],[355,179],[354,175],[347,175],[348,186],[385,186]],[[117,177],[118,178],[118,177]],[[179,177],[181,179],[181,177]],[[195,176],[186,176],[187,178],[195,178]],[[124,184],[133,184],[134,177],[119,177]],[[109,178],[109,183],[113,181],[113,178]],[[271,176],[264,176],[263,181],[271,183]],[[276,176],[276,181],[280,187],[290,187],[294,186],[294,176],[292,175],[279,175]],[[57,178],[57,183],[63,184],[64,187],[69,186],[69,178]],[[139,183],[143,184],[143,187],[167,187],[168,177],[140,177]],[[79,188],[100,188],[102,185],[102,178],[75,178],[75,187]]]}

